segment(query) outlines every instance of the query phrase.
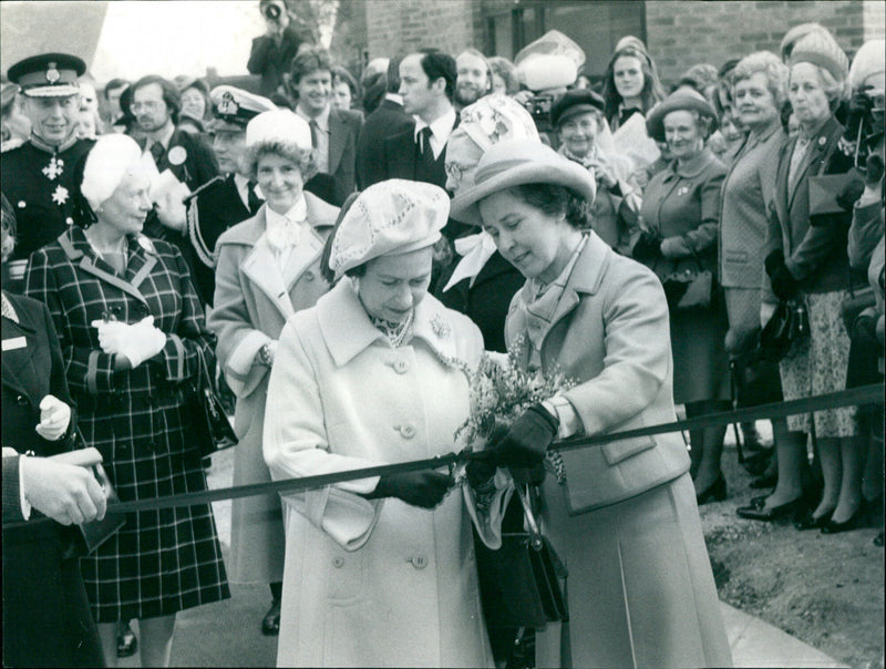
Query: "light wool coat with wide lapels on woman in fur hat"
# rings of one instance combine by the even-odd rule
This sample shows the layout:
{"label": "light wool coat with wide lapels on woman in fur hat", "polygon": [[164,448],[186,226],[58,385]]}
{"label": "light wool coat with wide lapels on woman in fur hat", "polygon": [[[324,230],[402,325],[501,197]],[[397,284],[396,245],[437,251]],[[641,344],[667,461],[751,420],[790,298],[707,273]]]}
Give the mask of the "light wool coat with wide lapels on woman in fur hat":
{"label": "light wool coat with wide lapels on woman in fur hat", "polygon": [[[208,327],[218,336],[218,360],[237,395],[234,419],[239,444],[234,485],[270,481],[261,455],[261,430],[268,368],[255,363],[256,352],[280,336],[286,319],[312,307],[329,290],[320,275],[326,230],[338,208],[305,194],[308,222],[317,234],[305,235],[280,271],[265,238],[266,207],[218,239],[215,308]],[[284,570],[284,525],[277,495],[234,500],[229,572],[236,583],[278,583]]]}

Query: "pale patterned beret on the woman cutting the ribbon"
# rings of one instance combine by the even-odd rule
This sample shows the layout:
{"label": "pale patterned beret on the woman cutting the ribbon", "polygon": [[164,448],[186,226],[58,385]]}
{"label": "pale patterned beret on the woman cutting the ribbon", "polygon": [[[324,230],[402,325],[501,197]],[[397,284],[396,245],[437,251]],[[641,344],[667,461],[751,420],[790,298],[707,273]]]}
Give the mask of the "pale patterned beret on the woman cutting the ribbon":
{"label": "pale patterned beret on the woman cutting the ribbon", "polygon": [[392,254],[436,243],[450,215],[450,198],[440,186],[388,179],[360,193],[341,218],[329,254],[329,269],[346,271]]}

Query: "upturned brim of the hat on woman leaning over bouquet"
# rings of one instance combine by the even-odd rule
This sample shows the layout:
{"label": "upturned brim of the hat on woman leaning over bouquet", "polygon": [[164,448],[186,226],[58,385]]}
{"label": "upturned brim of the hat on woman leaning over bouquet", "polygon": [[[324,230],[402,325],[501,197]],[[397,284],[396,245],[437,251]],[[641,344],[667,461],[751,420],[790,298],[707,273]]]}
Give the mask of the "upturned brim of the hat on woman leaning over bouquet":
{"label": "upturned brim of the hat on woman leaning over bouquet", "polygon": [[578,163],[553,164],[547,161],[522,163],[486,178],[460,193],[452,200],[450,217],[470,225],[482,226],[480,202],[490,195],[524,184],[553,184],[563,186],[594,203],[596,188],[594,177]]}

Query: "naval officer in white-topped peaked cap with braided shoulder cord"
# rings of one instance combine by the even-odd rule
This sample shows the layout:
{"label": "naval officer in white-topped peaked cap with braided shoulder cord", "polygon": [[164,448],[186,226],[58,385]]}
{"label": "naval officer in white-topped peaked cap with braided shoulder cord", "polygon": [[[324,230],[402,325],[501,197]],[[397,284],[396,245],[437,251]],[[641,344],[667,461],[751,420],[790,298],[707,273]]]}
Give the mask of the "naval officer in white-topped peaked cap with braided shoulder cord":
{"label": "naval officer in white-topped peaked cap with braided shoulder cord", "polygon": [[216,86],[209,97],[214,115],[209,133],[223,174],[192,193],[185,203],[188,239],[194,249],[194,282],[203,302],[212,306],[215,243],[226,229],[253,216],[264,202],[257,184],[240,172],[246,124],[277,107],[267,97],[228,85]]}

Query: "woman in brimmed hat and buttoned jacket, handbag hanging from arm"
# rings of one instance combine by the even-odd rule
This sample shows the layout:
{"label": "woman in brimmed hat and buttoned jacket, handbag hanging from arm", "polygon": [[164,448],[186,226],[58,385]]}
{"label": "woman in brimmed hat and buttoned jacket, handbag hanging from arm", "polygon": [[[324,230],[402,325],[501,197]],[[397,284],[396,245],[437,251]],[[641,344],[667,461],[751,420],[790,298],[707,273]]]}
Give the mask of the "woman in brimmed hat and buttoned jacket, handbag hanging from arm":
{"label": "woman in brimmed hat and buttoned jacket, handbag hanging from arm", "polygon": [[[689,418],[729,409],[725,322],[717,296],[708,306],[687,307],[690,281],[717,274],[720,187],[727,168],[705,146],[717,115],[689,90],[672,93],[647,121],[649,136],[667,142],[672,162],[643,192],[633,258],[650,267],[664,286],[670,311],[673,399]],[[692,474],[700,503],[724,500],[720,472],[725,428],[691,431]]]}

